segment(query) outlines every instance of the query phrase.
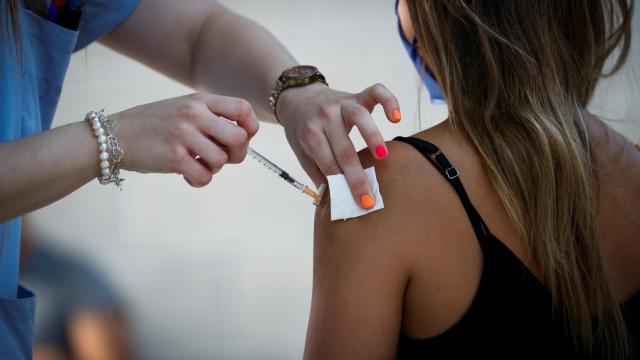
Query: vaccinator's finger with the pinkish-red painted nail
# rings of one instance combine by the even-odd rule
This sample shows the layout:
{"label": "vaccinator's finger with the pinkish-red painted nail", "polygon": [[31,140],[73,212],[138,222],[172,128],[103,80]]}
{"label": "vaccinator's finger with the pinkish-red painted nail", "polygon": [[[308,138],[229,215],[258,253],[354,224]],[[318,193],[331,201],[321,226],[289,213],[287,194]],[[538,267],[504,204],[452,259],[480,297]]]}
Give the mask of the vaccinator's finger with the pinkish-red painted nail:
{"label": "vaccinator's finger with the pinkish-red painted nail", "polygon": [[342,120],[345,124],[348,124],[348,128],[351,127],[350,125],[358,128],[374,157],[384,159],[389,155],[389,149],[384,143],[384,138],[367,109],[358,104],[346,103],[341,106],[340,112]]}

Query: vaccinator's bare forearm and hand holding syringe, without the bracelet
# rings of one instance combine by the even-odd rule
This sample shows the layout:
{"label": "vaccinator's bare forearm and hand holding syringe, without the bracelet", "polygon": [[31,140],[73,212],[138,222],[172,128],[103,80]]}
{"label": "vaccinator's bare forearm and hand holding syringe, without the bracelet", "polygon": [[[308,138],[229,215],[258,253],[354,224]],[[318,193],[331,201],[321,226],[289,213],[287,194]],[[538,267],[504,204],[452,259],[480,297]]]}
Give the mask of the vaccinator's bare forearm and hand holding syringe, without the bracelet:
{"label": "vaccinator's bare forearm and hand holding syringe, without the bracelet", "polygon": [[[247,153],[258,120],[241,99],[193,94],[111,115],[122,167],[178,173],[204,186]],[[227,120],[228,119],[228,120]],[[100,175],[98,143],[86,121],[0,143],[0,223],[46,206]]]}

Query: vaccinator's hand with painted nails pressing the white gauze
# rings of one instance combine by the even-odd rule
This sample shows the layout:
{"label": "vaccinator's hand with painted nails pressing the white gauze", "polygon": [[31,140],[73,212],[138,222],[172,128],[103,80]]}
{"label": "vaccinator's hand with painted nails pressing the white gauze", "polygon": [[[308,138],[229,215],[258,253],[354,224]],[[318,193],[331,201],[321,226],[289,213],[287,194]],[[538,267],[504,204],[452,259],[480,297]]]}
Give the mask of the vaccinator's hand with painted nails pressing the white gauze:
{"label": "vaccinator's hand with painted nails pressing the white gauze", "polygon": [[349,139],[355,126],[374,157],[387,157],[388,149],[371,112],[381,104],[391,122],[400,121],[400,105],[380,84],[358,94],[330,89],[324,84],[290,88],[278,100],[278,119],[287,140],[316,186],[326,176],[344,173],[351,193],[363,208],[374,205],[374,194],[356,149]]}

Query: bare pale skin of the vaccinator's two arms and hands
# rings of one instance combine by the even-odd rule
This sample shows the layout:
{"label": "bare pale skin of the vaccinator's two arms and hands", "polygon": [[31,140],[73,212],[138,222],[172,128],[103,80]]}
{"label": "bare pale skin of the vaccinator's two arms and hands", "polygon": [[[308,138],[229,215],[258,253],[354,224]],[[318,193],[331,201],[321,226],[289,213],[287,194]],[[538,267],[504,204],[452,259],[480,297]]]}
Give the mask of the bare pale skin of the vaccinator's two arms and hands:
{"label": "bare pale skin of the vaccinator's two arms and hands", "polygon": [[[100,41],[201,90],[112,114],[125,151],[123,169],[178,173],[195,187],[207,185],[225,164],[242,161],[258,118],[274,121],[267,97],[275,80],[297,64],[268,31],[212,0],[189,1],[189,6],[142,0]],[[357,127],[372,154],[384,146],[370,115],[377,104],[389,120],[398,120],[397,99],[379,84],[357,94],[322,84],[282,94],[280,122],[316,185],[328,175],[344,173],[355,199],[372,195],[347,134]],[[0,144],[0,223],[44,207],[97,177],[97,154],[89,126],[80,121]]]}

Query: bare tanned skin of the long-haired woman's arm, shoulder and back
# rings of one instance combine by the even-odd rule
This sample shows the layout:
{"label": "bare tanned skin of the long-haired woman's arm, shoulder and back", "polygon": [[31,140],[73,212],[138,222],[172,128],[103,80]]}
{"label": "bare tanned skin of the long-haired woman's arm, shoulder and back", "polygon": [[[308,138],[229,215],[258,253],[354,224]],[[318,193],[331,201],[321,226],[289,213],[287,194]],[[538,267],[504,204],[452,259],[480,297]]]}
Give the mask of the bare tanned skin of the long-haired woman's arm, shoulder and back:
{"label": "bare tanned skin of the long-haired woman's arm, shoulder and back", "polygon": [[[599,171],[598,240],[623,303],[640,290],[640,153],[594,116],[585,119]],[[414,136],[446,154],[491,232],[540,277],[469,139],[448,121]],[[386,161],[360,153],[376,167],[383,210],[331,222],[328,194],[317,209],[305,359],[395,358],[401,331],[439,335],[475,297],[483,256],[459,198],[419,152],[387,146]]]}

